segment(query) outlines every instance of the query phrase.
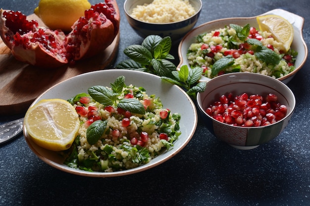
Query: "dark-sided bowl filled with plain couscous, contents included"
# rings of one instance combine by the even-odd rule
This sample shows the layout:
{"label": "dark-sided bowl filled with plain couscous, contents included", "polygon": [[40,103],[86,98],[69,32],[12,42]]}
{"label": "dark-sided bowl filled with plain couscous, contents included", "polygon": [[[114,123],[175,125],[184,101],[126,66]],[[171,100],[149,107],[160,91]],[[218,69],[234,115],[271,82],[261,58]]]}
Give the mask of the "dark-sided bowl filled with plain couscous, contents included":
{"label": "dark-sided bowl filled with plain couscous, contents included", "polygon": [[196,24],[202,9],[201,0],[125,0],[126,18],[135,32],[182,39]]}

